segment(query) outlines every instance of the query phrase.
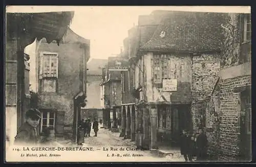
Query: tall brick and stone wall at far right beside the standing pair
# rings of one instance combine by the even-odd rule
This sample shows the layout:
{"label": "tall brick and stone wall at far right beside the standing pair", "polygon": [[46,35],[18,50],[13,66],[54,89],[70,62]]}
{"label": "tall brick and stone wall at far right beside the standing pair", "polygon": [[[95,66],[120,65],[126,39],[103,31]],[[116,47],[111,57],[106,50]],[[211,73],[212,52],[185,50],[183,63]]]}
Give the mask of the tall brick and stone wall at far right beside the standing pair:
{"label": "tall brick and stone wall at far right beside the standing pair", "polygon": [[[251,85],[251,75],[243,63],[250,58],[250,43],[242,43],[243,30],[242,14],[228,14],[223,29],[221,71],[218,89],[208,100],[207,120],[212,127],[208,135],[212,135],[209,154],[217,160],[239,160],[240,152],[240,93],[234,93],[233,88]],[[247,48],[247,49],[244,49]],[[241,64],[241,65],[240,65]],[[241,68],[240,66],[244,66]],[[232,66],[232,67],[231,67]],[[218,99],[218,103],[213,101]],[[217,115],[211,115],[210,104],[214,103]],[[219,120],[218,120],[218,119]]]}

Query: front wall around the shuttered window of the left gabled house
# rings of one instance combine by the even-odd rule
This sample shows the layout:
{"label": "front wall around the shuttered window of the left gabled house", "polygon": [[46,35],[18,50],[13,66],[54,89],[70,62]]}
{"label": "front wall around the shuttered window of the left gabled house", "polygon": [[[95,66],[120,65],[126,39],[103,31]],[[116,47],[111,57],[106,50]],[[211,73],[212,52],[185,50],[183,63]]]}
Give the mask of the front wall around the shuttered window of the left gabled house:
{"label": "front wall around the shuttered window of the left gabled house", "polygon": [[[39,84],[40,101],[38,105],[42,108],[55,108],[65,111],[65,125],[73,123],[73,98],[79,92],[79,62],[83,56],[83,51],[79,44],[61,44],[41,43],[37,52],[37,73],[39,76],[40,52],[58,53],[58,78],[56,92],[40,92],[42,90]],[[76,56],[74,56],[76,55]],[[40,83],[38,81],[38,83]]]}

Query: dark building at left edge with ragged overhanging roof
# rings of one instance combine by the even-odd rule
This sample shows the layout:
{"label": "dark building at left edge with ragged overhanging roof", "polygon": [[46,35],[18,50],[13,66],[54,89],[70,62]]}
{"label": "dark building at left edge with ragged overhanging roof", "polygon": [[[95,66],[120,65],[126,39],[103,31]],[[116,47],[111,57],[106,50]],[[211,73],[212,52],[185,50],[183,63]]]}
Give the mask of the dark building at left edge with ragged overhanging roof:
{"label": "dark building at left edge with ragged overhanging roof", "polygon": [[[24,123],[25,81],[24,49],[35,39],[56,40],[59,45],[74,12],[7,13],[6,14],[6,138],[12,145],[17,128]],[[27,106],[28,107],[28,106]]]}

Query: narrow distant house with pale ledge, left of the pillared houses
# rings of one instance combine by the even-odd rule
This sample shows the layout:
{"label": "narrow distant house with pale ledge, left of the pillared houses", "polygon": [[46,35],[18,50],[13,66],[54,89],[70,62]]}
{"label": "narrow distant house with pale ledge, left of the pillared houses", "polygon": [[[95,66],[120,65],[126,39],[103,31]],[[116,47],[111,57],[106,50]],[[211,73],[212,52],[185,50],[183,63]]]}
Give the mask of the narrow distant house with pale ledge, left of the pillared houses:
{"label": "narrow distant house with pale ledge, left of the pillared houses", "polygon": [[102,70],[104,89],[103,124],[105,128],[114,128],[117,131],[121,122],[122,85],[121,73],[127,71],[128,64],[122,57],[109,57],[108,65]]}

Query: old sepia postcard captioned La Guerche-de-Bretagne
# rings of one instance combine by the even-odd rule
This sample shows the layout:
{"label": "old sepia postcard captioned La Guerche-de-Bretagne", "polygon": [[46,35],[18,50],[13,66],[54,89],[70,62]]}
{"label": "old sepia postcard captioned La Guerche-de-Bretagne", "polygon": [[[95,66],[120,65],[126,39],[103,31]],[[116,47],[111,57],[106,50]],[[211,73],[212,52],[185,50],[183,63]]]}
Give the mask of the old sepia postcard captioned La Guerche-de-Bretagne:
{"label": "old sepia postcard captioned La Guerche-de-Bretagne", "polygon": [[249,6],[7,6],[6,162],[251,160]]}

